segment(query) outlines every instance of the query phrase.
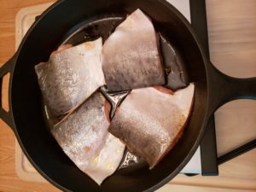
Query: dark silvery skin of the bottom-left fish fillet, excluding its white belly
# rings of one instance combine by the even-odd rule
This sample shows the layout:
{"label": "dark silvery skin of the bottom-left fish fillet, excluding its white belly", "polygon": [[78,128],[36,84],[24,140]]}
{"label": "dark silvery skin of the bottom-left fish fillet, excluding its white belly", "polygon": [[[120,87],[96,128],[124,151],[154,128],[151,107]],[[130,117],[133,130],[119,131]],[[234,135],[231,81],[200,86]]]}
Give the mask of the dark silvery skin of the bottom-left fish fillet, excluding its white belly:
{"label": "dark silvery skin of the bottom-left fish fillet, excluding its white belly", "polygon": [[82,170],[106,141],[109,122],[105,102],[105,97],[96,91],[51,129],[63,151]]}

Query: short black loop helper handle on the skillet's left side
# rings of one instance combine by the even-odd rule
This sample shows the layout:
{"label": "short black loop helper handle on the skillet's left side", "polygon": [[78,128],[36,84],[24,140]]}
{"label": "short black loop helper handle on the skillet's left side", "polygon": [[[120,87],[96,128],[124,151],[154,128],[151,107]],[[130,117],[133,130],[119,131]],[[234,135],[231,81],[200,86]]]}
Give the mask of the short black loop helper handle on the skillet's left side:
{"label": "short black loop helper handle on the skillet's left side", "polygon": [[[9,125],[10,128],[14,129],[14,120],[12,117],[12,109],[9,108],[9,111],[5,111],[2,106],[2,84],[3,84],[3,77],[10,73],[9,81],[12,79],[13,67],[15,65],[16,57],[15,55],[6,63],[0,67],[0,118]],[[9,86],[9,104],[10,104],[10,86]]]}

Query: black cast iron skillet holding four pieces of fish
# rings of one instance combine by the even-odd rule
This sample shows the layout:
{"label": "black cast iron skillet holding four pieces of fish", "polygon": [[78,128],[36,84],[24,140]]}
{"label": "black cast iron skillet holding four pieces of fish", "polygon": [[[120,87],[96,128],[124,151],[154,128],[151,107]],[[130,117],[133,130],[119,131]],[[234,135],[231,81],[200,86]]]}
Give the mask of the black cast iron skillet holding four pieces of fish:
{"label": "black cast iron skillet holding four pieces of fish", "polygon": [[[142,9],[153,20],[156,30],[171,39],[182,53],[189,79],[195,82],[194,108],[183,137],[158,166],[151,171],[147,166],[119,170],[99,187],[73,165],[45,128],[34,66],[47,61],[63,38],[69,37],[70,30],[75,30],[81,22],[89,25],[99,21],[101,24],[92,27],[89,35],[100,32],[108,36],[111,20],[120,15],[125,17],[137,8]],[[56,187],[67,191],[158,189],[188,163],[201,142],[208,120],[219,106],[239,98],[256,98],[256,79],[231,78],[213,67],[189,22],[165,0],[59,1],[26,33],[13,58],[1,67],[0,77],[6,73],[10,73],[9,112],[1,108],[0,117],[13,129],[20,147],[38,172]]]}

